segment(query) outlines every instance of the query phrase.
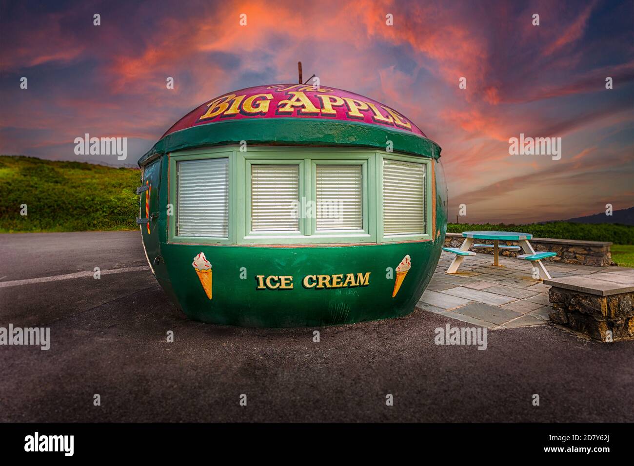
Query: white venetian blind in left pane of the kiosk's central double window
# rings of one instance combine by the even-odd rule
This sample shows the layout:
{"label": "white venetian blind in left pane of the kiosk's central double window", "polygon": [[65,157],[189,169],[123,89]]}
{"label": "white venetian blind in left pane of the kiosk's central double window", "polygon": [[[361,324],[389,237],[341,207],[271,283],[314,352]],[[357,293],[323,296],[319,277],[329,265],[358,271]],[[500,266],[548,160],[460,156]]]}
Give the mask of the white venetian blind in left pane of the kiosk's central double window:
{"label": "white venetian blind in left pane of the kiosk's central double window", "polygon": [[299,165],[251,165],[251,231],[299,231]]}

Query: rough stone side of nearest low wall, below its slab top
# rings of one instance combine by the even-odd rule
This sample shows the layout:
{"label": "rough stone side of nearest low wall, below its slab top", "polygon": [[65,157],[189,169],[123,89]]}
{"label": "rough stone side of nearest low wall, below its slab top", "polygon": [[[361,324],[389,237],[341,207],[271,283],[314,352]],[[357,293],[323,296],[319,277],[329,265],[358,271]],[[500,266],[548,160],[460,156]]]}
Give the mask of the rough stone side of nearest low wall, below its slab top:
{"label": "rough stone side of nearest low wall, below its slab top", "polygon": [[634,338],[634,292],[598,296],[553,286],[548,291],[553,312],[550,321],[565,325],[592,339],[631,340]]}

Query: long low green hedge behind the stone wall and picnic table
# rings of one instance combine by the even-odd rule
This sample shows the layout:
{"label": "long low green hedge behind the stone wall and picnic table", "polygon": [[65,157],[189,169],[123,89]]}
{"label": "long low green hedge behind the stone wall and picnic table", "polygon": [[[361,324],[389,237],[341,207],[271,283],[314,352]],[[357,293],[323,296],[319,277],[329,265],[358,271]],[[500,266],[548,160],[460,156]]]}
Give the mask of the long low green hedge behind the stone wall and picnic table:
{"label": "long low green hedge behind the stone wall and picnic table", "polygon": [[634,226],[601,223],[569,223],[548,222],[531,223],[526,225],[498,224],[469,224],[450,223],[448,233],[462,233],[463,231],[521,231],[531,233],[537,238],[559,238],[561,240],[610,241],[615,244],[634,244]]}

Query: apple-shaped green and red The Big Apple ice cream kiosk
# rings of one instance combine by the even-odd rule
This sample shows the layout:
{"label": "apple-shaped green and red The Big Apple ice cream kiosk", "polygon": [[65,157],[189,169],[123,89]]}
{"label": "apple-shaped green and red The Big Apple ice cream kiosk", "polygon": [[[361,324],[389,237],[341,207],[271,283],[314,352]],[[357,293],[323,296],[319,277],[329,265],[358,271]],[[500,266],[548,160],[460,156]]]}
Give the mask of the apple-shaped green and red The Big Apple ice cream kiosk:
{"label": "apple-shaped green and red The Big Apple ice cream kiosk", "polygon": [[148,262],[194,320],[403,316],[443,247],[439,157],[413,122],[358,94],[304,84],[223,94],[139,159]]}

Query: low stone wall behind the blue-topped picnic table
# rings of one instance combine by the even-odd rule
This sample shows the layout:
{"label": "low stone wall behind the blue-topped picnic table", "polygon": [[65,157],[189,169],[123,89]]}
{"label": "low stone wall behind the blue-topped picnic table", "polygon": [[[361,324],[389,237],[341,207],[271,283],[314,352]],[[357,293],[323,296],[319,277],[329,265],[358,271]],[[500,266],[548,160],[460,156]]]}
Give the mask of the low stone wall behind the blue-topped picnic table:
{"label": "low stone wall behind the blue-topped picnic table", "polygon": [[[460,233],[447,233],[444,238],[446,247],[460,247],[463,240]],[[529,240],[536,251],[557,252],[556,257],[548,257],[545,261],[564,262],[565,264],[581,264],[585,266],[605,267],[616,265],[612,262],[610,245],[602,241],[555,240],[552,238],[533,238]],[[475,240],[477,244],[491,244],[491,248],[472,249],[478,254],[493,254],[493,241]],[[517,241],[500,241],[500,245],[519,245]],[[500,250],[500,256],[515,257],[523,251]]]}

